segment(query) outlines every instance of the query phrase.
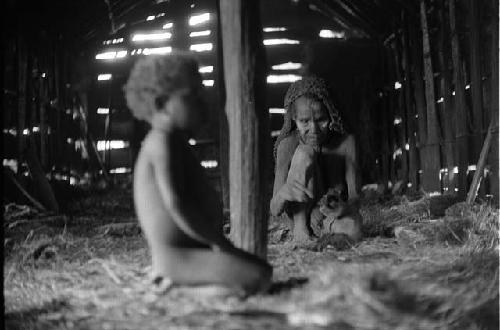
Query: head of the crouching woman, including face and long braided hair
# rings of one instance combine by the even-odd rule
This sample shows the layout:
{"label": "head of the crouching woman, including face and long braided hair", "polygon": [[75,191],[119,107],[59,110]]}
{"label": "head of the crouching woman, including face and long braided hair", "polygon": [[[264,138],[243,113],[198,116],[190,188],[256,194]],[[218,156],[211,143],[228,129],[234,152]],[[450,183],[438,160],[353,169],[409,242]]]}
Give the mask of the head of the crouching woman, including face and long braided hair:
{"label": "head of the crouching woman, including face and long braided hair", "polygon": [[285,116],[278,144],[297,129],[305,142],[320,144],[330,132],[344,134],[340,114],[333,106],[323,79],[310,76],[294,82],[285,95]]}

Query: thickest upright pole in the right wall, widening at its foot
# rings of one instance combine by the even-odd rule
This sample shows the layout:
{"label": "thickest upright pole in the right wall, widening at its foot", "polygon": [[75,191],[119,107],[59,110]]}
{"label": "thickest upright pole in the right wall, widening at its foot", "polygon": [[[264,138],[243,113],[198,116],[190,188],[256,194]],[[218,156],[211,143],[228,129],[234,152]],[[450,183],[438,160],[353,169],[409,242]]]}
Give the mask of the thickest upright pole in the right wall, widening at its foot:
{"label": "thickest upright pole in the right wall, widening at its foot", "polygon": [[427,104],[427,156],[422,162],[422,187],[427,192],[441,191],[439,182],[440,152],[438,118],[436,114],[436,97],[434,94],[434,71],[430,48],[429,29],[427,26],[427,10],[425,0],[420,0],[420,23],[422,27],[422,44],[425,75],[425,99]]}

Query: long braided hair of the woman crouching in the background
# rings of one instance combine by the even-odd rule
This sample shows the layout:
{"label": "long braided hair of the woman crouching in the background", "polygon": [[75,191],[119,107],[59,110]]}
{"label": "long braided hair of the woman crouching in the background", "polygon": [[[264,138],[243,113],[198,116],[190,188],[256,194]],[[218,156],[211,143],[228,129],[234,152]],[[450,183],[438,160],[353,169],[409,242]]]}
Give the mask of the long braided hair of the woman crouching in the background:
{"label": "long braided hair of the woman crouching in the background", "polygon": [[336,131],[340,134],[344,134],[344,125],[342,124],[342,119],[338,110],[333,105],[330,94],[328,93],[328,88],[325,81],[316,76],[304,77],[301,80],[294,82],[288,88],[285,95],[285,115],[283,118],[283,127],[281,128],[280,134],[276,139],[274,144],[274,158],[276,158],[278,146],[280,142],[292,134],[293,130],[296,129],[293,124],[292,111],[293,103],[301,96],[308,96],[317,99],[324,104],[328,111],[330,117],[329,128],[331,131]]}

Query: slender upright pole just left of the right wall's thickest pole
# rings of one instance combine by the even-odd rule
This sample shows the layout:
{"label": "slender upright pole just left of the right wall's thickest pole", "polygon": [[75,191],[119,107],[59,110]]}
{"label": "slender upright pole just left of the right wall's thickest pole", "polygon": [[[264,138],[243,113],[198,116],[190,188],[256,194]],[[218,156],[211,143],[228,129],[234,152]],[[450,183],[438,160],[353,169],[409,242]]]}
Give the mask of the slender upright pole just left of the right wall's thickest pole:
{"label": "slender upright pole just left of the right wall's thickest pole", "polygon": [[418,186],[418,152],[416,145],[416,125],[415,125],[415,108],[412,103],[411,90],[411,67],[410,67],[410,50],[408,40],[408,18],[403,11],[403,32],[401,36],[402,45],[402,69],[404,73],[403,91],[405,93],[406,104],[406,131],[408,136],[409,163],[408,163],[408,179],[411,183],[410,191],[414,191]]}

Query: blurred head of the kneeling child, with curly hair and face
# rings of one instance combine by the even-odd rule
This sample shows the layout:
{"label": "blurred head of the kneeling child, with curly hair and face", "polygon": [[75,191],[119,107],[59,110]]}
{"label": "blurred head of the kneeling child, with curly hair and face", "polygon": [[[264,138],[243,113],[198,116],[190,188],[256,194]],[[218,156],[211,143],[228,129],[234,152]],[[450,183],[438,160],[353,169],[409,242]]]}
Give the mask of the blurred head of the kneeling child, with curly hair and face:
{"label": "blurred head of the kneeling child, with curly hair and face", "polygon": [[124,86],[127,105],[136,118],[154,123],[166,115],[181,128],[200,121],[201,91],[198,63],[182,53],[139,59]]}

